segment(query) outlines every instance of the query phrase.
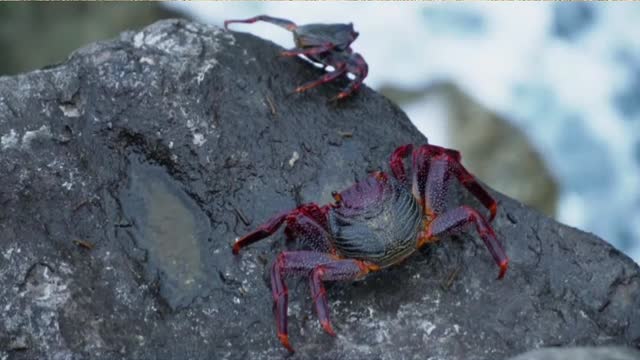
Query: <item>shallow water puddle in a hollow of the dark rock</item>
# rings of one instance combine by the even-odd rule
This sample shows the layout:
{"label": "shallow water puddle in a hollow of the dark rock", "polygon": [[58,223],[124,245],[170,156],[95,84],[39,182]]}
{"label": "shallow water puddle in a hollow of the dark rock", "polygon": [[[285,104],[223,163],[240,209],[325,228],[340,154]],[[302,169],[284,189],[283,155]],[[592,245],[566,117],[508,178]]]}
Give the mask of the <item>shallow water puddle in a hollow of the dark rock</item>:
{"label": "shallow water puddle in a hollow of the dark rock", "polygon": [[133,163],[121,196],[136,247],[146,251],[148,279],[160,280],[171,308],[188,306],[212,288],[203,256],[209,220],[162,168]]}

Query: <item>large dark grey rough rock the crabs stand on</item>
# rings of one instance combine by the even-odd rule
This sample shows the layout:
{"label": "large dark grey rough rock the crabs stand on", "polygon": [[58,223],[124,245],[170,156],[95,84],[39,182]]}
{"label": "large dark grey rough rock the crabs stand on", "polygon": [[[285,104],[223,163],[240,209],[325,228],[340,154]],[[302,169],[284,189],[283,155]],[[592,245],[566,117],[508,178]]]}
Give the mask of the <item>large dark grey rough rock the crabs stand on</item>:
{"label": "large dark grey rough rock the crabs stand on", "polygon": [[[164,21],[0,78],[0,359],[278,359],[265,275],[277,211],[327,202],[426,139],[364,88],[240,33]],[[456,188],[457,189],[457,188]],[[503,281],[472,233],[329,287],[337,338],[290,281],[294,359],[501,359],[640,345],[640,272],[606,242],[495,194]],[[477,205],[457,189],[449,199]]]}

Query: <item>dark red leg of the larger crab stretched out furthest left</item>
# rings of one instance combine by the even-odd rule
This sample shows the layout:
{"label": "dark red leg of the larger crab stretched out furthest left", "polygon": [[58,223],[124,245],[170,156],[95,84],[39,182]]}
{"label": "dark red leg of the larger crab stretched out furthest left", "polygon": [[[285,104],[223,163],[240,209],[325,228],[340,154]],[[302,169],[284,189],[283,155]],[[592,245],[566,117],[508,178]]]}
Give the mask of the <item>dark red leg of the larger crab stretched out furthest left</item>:
{"label": "dark red leg of the larger crab stretched out furthest left", "polygon": [[[282,212],[267,220],[266,223],[260,225],[256,230],[236,241],[235,244],[233,244],[233,253],[237,255],[243,247],[251,245],[256,241],[262,240],[275,233],[285,221],[287,221],[287,229],[285,229],[285,231],[287,231],[289,236],[305,234],[303,229],[315,229],[315,233],[309,234],[310,240],[308,241],[311,241],[312,244],[314,241],[318,244],[321,244],[321,241],[326,242],[328,240],[324,237],[324,233],[328,231],[326,219],[327,211],[328,207],[326,206],[321,208],[316,204],[305,204],[293,211]],[[300,222],[299,220],[301,218],[306,218],[307,220]],[[301,240],[305,241],[306,235],[307,234],[305,234],[305,237],[301,237]]]}

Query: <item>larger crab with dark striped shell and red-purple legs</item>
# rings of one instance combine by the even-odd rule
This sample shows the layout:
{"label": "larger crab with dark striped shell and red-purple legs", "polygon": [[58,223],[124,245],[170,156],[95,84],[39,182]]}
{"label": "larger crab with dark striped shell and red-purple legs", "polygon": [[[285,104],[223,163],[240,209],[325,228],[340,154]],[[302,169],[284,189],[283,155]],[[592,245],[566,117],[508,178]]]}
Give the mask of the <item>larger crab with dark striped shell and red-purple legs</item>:
{"label": "larger crab with dark striped shell and red-purple legs", "polygon": [[[408,175],[405,159],[410,155]],[[297,238],[311,249],[283,251],[271,268],[277,335],[285,348],[294,351],[287,331],[285,277],[289,275],[309,278],[320,324],[333,336],[323,282],[362,279],[465,225],[475,226],[500,269],[498,279],[504,277],[509,259],[490,225],[497,203],[460,160],[460,152],[453,149],[429,144],[415,150],[411,144],[400,146],[391,155],[392,175],[373,172],[347,189],[333,192],[335,202],[323,206],[307,203],[279,213],[234,243],[237,255],[286,223],[286,237]],[[488,209],[488,220],[470,206],[445,209],[452,177]]]}

